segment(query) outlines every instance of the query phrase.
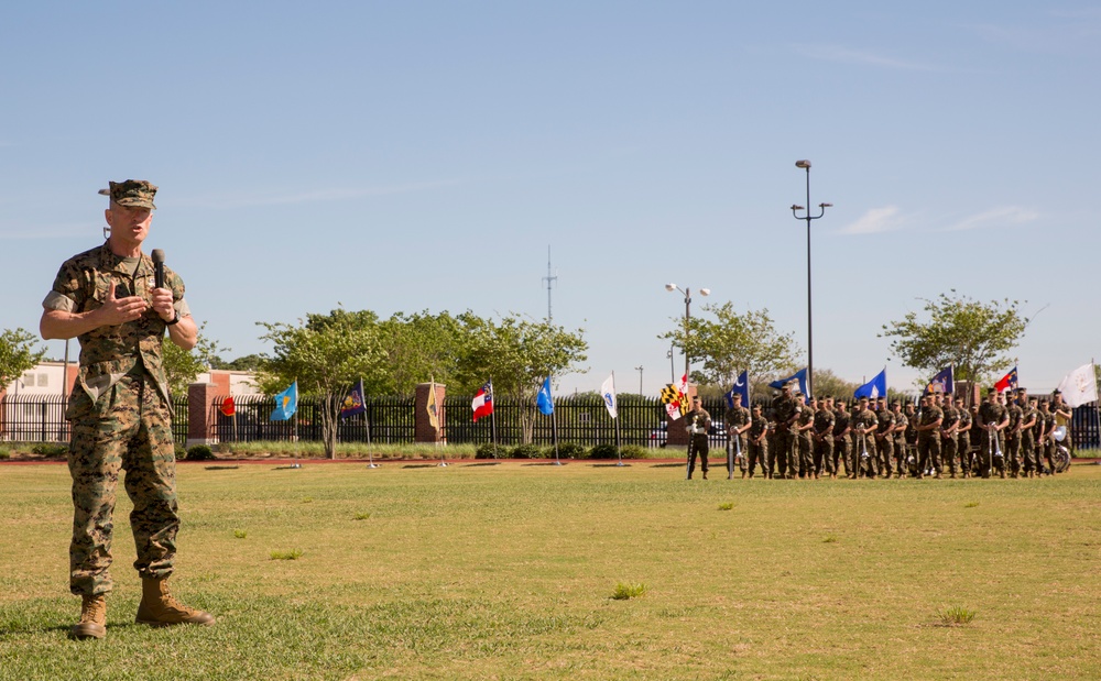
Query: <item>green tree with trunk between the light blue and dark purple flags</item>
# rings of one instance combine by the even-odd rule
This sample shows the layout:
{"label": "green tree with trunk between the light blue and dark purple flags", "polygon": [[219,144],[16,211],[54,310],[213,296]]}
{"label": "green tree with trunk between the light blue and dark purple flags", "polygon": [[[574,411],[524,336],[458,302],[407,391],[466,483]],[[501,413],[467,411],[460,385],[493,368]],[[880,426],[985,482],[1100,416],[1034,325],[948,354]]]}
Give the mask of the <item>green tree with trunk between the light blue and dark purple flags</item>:
{"label": "green tree with trunk between the light blue and dark purple flags", "polygon": [[334,310],[308,315],[297,326],[259,322],[266,330],[261,340],[274,344],[271,355],[261,355],[260,389],[274,395],[297,381],[301,395],[319,399],[321,437],[330,459],[336,455],[340,405],[348,389],[360,378],[364,389],[384,381],[378,326],[363,320],[362,314]]}

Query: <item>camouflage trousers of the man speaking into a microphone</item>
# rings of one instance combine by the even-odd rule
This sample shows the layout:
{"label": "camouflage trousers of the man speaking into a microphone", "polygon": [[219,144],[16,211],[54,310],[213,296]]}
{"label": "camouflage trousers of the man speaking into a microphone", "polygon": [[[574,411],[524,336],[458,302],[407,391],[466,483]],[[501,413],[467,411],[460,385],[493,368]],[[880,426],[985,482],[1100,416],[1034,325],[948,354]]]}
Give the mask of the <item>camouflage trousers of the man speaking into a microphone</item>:
{"label": "camouflage trousers of the man speaking into a microphone", "polygon": [[153,381],[140,372],[128,374],[95,406],[80,393],[74,398],[69,418],[74,509],[69,590],[77,595],[98,595],[113,586],[109,571],[112,517],[122,469],[127,472],[127,494],[133,502],[134,569],[142,578],[167,578],[179,529],[176,458],[172,417]]}

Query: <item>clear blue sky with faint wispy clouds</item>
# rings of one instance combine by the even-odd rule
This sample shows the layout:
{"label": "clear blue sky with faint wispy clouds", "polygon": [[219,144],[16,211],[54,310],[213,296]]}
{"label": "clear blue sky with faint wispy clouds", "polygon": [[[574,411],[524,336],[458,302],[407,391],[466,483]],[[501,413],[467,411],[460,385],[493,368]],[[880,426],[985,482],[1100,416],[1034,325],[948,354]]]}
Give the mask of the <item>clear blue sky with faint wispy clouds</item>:
{"label": "clear blue sky with faint wispy clouds", "polygon": [[1015,354],[1050,389],[1101,355],[1099,57],[1097,2],[18,3],[0,328],[146,178],[227,359],[338,305],[545,317],[549,245],[590,344],[562,389],[656,393],[667,282],[806,348],[809,158],[816,366],[913,388],[876,333],[955,288],[1043,309]]}

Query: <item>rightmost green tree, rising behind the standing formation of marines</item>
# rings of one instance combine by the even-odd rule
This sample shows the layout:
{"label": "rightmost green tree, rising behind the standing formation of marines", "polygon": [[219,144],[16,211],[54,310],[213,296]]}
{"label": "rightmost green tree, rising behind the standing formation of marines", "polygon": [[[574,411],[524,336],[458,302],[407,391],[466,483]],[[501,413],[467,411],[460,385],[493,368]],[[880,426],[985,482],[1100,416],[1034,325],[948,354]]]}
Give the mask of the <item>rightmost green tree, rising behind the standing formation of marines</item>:
{"label": "rightmost green tree, rising behind the standing formation of marines", "polygon": [[[949,364],[958,381],[984,382],[1011,366],[1009,352],[1028,327],[1017,300],[980,303],[950,289],[925,300],[928,320],[908,312],[883,326],[880,338],[890,338],[891,350],[906,366],[931,376]],[[922,383],[920,381],[918,383]]]}

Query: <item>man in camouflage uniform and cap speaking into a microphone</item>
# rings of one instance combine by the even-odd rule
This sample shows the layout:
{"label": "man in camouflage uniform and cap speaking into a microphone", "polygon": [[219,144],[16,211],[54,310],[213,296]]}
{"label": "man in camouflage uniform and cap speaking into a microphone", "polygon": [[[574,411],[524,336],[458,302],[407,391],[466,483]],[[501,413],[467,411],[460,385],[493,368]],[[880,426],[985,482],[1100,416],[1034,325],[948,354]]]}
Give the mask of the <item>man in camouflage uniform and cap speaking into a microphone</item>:
{"label": "man in camouflage uniform and cap speaking into a microphone", "polygon": [[111,183],[102,190],[111,197],[106,211],[110,238],[62,264],[43,300],[43,338],[77,337],[80,342],[79,371],[66,411],[73,433],[69,590],[83,598],[81,619],[73,628],[77,638],[106,635],[103,596],[113,586],[112,516],[122,470],[133,502],[134,569],[143,582],[138,622],[214,623],[207,613],[173,600],[164,584],[173,571],[179,515],[162,343],[167,330],[174,343],[189,350],[198,331],[184,300],[183,281],[165,267],[164,284],[156,286],[153,262],[141,251],[155,193],[144,180]]}

